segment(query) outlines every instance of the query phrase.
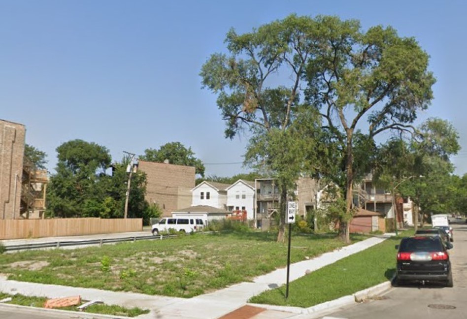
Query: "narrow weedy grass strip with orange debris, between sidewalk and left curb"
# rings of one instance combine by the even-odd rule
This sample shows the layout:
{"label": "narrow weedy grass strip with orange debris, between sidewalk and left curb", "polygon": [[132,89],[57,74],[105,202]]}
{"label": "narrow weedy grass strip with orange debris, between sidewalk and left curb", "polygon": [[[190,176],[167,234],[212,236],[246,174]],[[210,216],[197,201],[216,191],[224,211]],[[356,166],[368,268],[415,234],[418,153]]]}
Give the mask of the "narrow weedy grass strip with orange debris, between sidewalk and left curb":
{"label": "narrow weedy grass strip with orange debris, between sidewalk and left curb", "polygon": [[[28,307],[43,308],[47,298],[44,297],[28,297],[21,294],[9,295],[6,293],[0,292],[0,299],[11,297],[12,300],[7,302],[8,304],[21,305]],[[87,302],[82,300],[82,304]],[[60,310],[69,310],[69,311],[78,311],[78,306],[63,307],[57,308]],[[142,314],[149,313],[149,310],[142,310],[140,308],[124,308],[117,305],[104,305],[104,304],[94,304],[85,308],[83,313],[92,313],[92,314],[102,314],[102,315],[112,315],[112,316],[125,316],[125,317],[136,317]]]}

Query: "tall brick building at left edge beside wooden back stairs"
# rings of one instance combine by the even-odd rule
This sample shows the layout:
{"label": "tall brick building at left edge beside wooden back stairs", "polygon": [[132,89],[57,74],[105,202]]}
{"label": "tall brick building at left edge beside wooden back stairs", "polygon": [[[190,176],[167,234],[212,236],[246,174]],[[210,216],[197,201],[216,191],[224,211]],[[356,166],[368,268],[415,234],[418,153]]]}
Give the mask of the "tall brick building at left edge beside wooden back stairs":
{"label": "tall brick building at left edge beside wooden back stairs", "polygon": [[0,219],[19,217],[26,128],[0,120]]}

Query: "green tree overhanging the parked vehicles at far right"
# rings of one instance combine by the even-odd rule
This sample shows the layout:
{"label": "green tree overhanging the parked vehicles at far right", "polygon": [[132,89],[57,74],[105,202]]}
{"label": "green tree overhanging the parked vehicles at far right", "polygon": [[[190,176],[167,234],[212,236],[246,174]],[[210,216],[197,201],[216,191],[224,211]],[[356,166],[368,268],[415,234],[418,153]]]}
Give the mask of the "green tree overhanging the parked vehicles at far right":
{"label": "green tree overhanging the parked vehicles at far right", "polygon": [[[428,119],[404,138],[390,139],[379,149],[374,182],[410,196],[425,213],[451,211],[457,195],[450,156],[460,149],[457,130],[442,119]],[[418,225],[418,214],[414,223]]]}

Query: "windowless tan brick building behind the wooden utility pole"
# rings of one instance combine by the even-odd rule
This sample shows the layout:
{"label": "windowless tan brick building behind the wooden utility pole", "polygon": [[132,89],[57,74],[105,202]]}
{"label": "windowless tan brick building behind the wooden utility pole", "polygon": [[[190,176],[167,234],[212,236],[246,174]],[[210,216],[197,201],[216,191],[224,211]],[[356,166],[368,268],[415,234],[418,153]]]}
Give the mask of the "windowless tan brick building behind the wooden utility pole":
{"label": "windowless tan brick building behind the wooden utility pole", "polygon": [[145,199],[150,204],[157,203],[164,217],[191,206],[195,167],[140,160],[138,170],[146,173]]}

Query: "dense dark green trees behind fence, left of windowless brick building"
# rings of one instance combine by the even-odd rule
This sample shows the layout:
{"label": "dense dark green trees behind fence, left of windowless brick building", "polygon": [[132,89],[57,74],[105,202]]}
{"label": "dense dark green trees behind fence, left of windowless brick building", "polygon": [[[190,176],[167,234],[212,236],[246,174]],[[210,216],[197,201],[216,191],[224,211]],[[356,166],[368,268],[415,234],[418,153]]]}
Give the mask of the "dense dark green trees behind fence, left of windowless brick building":
{"label": "dense dark green trees behind fence, left of windowless brick building", "polygon": [[[128,173],[128,157],[110,165],[108,150],[82,140],[69,141],[57,148],[57,173],[52,175],[47,189],[47,217],[122,218],[124,213]],[[92,159],[92,157],[96,157]],[[112,167],[112,175],[105,170]],[[132,175],[129,218],[149,218],[157,209],[144,199],[146,175]]]}

